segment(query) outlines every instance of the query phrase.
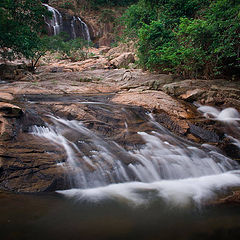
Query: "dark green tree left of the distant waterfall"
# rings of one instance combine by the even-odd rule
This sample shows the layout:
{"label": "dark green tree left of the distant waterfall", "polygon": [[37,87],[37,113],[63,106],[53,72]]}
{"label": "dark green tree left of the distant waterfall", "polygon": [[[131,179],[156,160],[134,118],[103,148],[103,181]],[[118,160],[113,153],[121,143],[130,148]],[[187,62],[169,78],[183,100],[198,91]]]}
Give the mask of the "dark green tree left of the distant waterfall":
{"label": "dark green tree left of the distant waterfall", "polygon": [[0,54],[13,60],[25,57],[35,61],[44,52],[41,34],[44,18],[50,16],[40,0],[1,0],[0,2]]}

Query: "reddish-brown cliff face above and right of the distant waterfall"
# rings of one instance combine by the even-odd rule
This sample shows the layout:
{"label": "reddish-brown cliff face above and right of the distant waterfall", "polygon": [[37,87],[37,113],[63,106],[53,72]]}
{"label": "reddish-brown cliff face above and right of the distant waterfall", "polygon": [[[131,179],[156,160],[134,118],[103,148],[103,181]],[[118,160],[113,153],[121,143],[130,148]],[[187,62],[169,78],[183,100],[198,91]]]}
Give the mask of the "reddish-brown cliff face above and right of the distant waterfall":
{"label": "reddish-brown cliff face above and right of the distant waterfall", "polygon": [[110,46],[115,42],[116,36],[121,34],[121,27],[117,25],[117,19],[124,11],[122,7],[101,7],[92,9],[87,1],[71,0],[46,1],[57,8],[64,16],[79,16],[87,24],[91,40],[96,46]]}

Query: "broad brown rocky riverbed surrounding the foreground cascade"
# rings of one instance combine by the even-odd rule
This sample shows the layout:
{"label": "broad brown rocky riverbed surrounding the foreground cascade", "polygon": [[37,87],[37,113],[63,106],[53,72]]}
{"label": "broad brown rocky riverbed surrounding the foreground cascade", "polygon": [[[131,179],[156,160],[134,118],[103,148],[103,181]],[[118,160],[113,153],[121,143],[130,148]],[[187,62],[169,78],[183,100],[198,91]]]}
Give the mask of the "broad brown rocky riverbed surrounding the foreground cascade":
{"label": "broad brown rocky riverbed surrounding the foreground cascade", "polygon": [[[67,187],[64,171],[56,165],[66,158],[65,151],[29,134],[32,125],[46,124],[46,113],[83,121],[94,131],[125,146],[141,144],[136,135],[126,137],[122,113],[106,115],[82,104],[91,99],[118,107],[137,106],[138,114],[144,111],[154,114],[174,134],[195,143],[218,146],[225,155],[239,160],[239,148],[225,134],[227,131],[237,138],[239,133],[221,122],[204,118],[197,111],[198,104],[220,110],[234,107],[240,111],[239,82],[182,80],[173,75],[144,72],[131,68],[133,58],[128,52],[112,54],[111,59],[112,55],[107,55],[109,48],[94,51],[95,57],[85,62],[51,62],[39,66],[35,74],[14,66],[4,70],[2,66],[1,189],[43,192]],[[120,68],[124,65],[130,67]],[[136,123],[136,119],[132,121]],[[136,124],[147,129],[142,122]],[[239,201],[236,196],[226,201],[229,199]]]}

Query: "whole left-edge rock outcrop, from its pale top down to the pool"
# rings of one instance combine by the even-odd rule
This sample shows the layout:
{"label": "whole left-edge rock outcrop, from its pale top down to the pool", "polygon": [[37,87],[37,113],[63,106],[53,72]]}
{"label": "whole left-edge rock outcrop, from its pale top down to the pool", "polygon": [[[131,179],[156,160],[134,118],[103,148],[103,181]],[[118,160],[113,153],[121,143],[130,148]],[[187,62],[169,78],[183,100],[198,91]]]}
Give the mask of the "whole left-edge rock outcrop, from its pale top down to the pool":
{"label": "whole left-edge rock outcrop, from its pale top down to the pool", "polygon": [[25,132],[27,116],[19,106],[0,102],[0,188],[15,192],[61,189],[66,181],[56,163],[64,161],[65,153]]}

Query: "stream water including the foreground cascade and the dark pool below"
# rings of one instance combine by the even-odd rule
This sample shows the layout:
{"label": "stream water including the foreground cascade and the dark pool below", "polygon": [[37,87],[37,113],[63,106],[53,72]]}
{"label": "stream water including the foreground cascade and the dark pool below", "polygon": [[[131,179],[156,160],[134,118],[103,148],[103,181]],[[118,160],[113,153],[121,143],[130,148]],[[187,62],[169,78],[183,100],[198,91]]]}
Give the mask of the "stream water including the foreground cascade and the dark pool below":
{"label": "stream water including the foreground cascade and the dark pool below", "polygon": [[[240,186],[239,164],[212,145],[172,134],[145,109],[110,100],[23,97],[34,113],[27,134],[65,153],[56,166],[68,188],[0,193],[1,239],[239,237],[239,208],[211,204]],[[63,113],[66,106],[85,109],[86,119]]]}

